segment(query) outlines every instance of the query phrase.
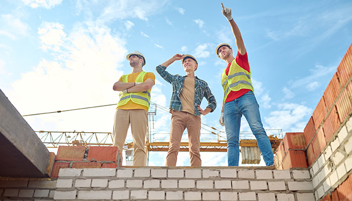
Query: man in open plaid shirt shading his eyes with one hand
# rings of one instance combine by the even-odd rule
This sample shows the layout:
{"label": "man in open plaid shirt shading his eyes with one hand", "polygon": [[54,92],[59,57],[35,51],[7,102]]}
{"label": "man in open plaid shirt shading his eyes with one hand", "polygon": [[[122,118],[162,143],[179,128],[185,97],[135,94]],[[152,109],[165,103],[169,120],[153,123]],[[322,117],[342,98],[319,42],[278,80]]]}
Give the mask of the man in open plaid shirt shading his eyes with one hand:
{"label": "man in open plaid shirt shading his eyes with one hand", "polygon": [[[182,60],[185,76],[171,75],[166,67],[176,60]],[[216,108],[216,100],[207,82],[195,76],[198,62],[192,55],[175,54],[172,58],[156,67],[160,76],[172,84],[170,100],[171,129],[170,144],[166,156],[166,166],[175,166],[180,150],[182,134],[187,128],[191,166],[201,166],[200,136],[201,114],[206,115]],[[207,98],[208,106],[202,110],[200,105],[203,97]]]}

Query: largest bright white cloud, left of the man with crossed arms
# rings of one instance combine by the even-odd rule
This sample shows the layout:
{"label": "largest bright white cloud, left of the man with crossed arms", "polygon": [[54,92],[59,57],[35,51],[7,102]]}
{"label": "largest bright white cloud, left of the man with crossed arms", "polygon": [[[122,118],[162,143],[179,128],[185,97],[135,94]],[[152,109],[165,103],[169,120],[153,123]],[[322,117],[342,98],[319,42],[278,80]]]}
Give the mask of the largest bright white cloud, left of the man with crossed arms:
{"label": "largest bright white cloud, left of the man with crossed arms", "polygon": [[[57,27],[52,27],[57,30]],[[47,30],[48,33],[51,30]],[[76,25],[53,60],[42,59],[12,83],[9,99],[22,115],[118,102],[112,85],[122,75],[125,41],[109,28]],[[49,49],[54,50],[55,49]],[[64,54],[64,56],[62,56]],[[112,132],[116,106],[26,117],[34,130]]]}

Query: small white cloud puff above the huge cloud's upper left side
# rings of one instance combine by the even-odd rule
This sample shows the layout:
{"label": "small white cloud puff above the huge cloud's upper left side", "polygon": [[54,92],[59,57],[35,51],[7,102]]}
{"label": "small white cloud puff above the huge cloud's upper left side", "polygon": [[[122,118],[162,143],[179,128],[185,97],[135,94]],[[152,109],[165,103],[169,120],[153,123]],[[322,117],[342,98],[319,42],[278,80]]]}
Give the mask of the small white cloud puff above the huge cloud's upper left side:
{"label": "small white cloud puff above the huge cloud's upper left side", "polygon": [[38,28],[38,34],[44,51],[49,49],[59,51],[66,37],[66,33],[63,31],[63,25],[59,23],[43,22]]}

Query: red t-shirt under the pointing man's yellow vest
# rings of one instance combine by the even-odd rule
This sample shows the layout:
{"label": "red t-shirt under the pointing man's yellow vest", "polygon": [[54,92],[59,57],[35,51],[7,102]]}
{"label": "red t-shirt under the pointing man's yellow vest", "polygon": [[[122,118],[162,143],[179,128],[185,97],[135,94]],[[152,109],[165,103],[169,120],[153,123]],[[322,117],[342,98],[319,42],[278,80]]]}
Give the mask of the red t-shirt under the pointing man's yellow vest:
{"label": "red t-shirt under the pointing man's yellow vest", "polygon": [[[236,55],[236,63],[243,68],[244,70],[246,70],[247,72],[250,72],[250,68],[249,68],[249,63],[248,63],[248,56],[247,56],[247,52],[244,55],[241,55],[238,51],[237,51],[237,55]],[[230,62],[227,67],[226,67],[226,75],[228,76],[229,74],[229,70],[230,70],[230,66],[231,66]],[[225,103],[227,102],[231,102],[232,100],[241,97],[243,94],[245,94],[246,92],[250,91],[250,89],[247,88],[242,88],[239,89],[238,91],[230,91],[230,93],[227,95]]]}

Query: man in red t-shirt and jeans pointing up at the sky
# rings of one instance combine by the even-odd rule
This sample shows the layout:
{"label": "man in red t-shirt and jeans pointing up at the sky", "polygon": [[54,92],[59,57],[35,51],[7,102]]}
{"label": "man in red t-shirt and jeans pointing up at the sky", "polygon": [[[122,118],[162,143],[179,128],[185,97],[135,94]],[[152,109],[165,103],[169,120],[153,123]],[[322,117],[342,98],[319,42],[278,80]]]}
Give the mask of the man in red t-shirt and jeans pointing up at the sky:
{"label": "man in red t-shirt and jeans pointing up at the sky", "polygon": [[229,21],[237,46],[236,58],[233,56],[229,44],[217,46],[217,56],[227,63],[221,75],[224,88],[224,100],[220,116],[220,124],[225,125],[227,136],[227,160],[229,166],[238,166],[239,160],[239,131],[242,115],[256,138],[259,150],[267,166],[274,165],[274,155],[270,140],[260,119],[259,106],[254,96],[254,89],[250,80],[250,67],[247,52],[241,33],[234,22],[231,9],[222,6],[222,14]]}

